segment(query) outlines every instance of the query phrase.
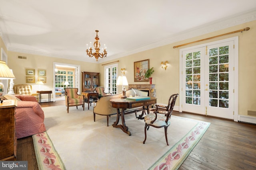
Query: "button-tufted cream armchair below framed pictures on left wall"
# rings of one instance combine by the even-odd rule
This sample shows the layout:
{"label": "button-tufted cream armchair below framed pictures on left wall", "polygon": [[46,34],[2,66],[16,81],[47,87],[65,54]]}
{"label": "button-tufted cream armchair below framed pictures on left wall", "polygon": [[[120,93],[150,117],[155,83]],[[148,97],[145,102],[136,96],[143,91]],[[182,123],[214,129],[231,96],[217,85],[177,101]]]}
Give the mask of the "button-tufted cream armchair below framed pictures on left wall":
{"label": "button-tufted cream armchair below framed pictures on left wall", "polygon": [[13,86],[13,91],[15,94],[19,94],[19,95],[34,96],[37,102],[39,101],[39,93],[32,93],[32,85],[16,84]]}

